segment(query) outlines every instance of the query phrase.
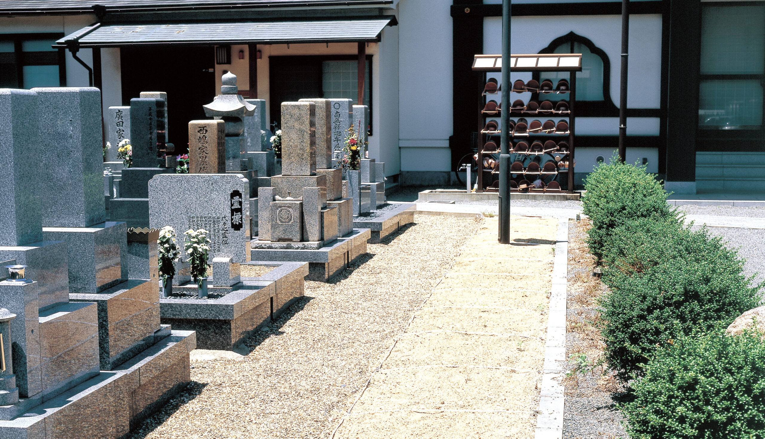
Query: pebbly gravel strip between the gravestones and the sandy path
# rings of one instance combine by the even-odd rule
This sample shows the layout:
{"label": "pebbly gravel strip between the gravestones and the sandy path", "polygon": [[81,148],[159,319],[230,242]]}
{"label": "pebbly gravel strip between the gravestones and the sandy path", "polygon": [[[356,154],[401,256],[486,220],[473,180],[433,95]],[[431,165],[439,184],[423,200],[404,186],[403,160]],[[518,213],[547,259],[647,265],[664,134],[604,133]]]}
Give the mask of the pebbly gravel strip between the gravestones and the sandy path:
{"label": "pebbly gravel strip between the gravestones and the sandy path", "polygon": [[132,439],[328,437],[483,220],[416,215],[334,282],[305,282],[305,298],[247,345],[240,361],[195,361],[192,384]]}

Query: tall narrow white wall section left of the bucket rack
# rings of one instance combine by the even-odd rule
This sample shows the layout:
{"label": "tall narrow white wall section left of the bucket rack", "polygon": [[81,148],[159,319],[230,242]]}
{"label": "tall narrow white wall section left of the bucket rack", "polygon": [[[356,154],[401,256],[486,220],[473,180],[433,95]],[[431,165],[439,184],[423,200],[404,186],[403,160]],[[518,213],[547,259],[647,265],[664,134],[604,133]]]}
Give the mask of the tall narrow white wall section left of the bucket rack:
{"label": "tall narrow white wall section left of the bucket rack", "polygon": [[402,171],[448,171],[452,125],[451,2],[399,2]]}

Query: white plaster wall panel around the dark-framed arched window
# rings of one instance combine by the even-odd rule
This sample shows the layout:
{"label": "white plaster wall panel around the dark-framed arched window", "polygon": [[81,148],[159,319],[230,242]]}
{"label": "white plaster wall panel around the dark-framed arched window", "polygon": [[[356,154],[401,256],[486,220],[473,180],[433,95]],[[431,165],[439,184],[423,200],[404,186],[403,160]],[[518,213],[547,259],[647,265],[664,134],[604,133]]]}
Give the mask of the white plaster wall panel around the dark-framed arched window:
{"label": "white plaster wall panel around the dark-framed arched window", "polygon": [[[536,0],[530,3],[542,2],[542,0]],[[608,55],[611,64],[611,100],[617,107],[619,106],[620,15],[513,17],[511,32],[510,48],[513,53],[538,53],[552,40],[569,32],[591,40],[596,47],[600,47]],[[483,19],[483,53],[502,53],[501,17]],[[661,55],[662,16],[658,14],[630,15],[628,108],[659,108]]]}

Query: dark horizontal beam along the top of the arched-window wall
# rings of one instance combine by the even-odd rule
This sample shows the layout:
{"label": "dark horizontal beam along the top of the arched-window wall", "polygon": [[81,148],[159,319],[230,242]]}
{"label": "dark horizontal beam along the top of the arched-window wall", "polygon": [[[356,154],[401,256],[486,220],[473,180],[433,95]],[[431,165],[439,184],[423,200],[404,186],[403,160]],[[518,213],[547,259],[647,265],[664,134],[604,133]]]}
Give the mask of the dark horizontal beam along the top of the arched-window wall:
{"label": "dark horizontal beam along the top of the arched-window wall", "polygon": [[[662,2],[630,2],[630,15],[661,14]],[[469,8],[470,11],[465,11]],[[621,2],[587,2],[556,4],[516,4],[512,9],[513,17],[525,15],[621,15]],[[451,16],[502,17],[502,5],[475,5],[459,2],[451,6]]]}

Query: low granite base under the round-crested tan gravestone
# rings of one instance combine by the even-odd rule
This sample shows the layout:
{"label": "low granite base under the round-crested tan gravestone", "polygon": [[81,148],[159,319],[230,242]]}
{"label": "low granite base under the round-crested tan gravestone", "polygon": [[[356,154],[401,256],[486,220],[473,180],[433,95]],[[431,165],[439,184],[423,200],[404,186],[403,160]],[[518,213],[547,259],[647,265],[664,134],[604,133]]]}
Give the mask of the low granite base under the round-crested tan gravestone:
{"label": "low granite base under the round-crested tan gravestone", "polygon": [[350,234],[338,237],[318,250],[251,248],[250,257],[252,260],[306,261],[308,275],[305,279],[326,282],[366,253],[366,241],[370,236],[368,228],[356,228]]}

